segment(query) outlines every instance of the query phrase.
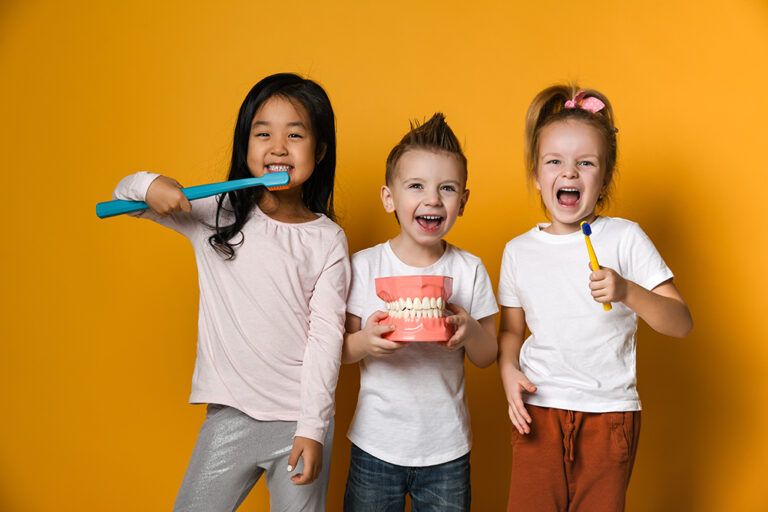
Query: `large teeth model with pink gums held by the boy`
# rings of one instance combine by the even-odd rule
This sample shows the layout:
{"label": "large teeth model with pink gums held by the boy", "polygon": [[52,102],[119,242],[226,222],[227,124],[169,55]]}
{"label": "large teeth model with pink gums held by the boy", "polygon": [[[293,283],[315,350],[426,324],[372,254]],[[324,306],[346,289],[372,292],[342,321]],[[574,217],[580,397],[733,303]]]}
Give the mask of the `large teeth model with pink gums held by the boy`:
{"label": "large teeth model with pink gums held by the boy", "polygon": [[447,276],[376,278],[376,295],[386,302],[395,330],[383,337],[393,341],[448,341],[453,326],[446,322],[445,306],[453,293]]}

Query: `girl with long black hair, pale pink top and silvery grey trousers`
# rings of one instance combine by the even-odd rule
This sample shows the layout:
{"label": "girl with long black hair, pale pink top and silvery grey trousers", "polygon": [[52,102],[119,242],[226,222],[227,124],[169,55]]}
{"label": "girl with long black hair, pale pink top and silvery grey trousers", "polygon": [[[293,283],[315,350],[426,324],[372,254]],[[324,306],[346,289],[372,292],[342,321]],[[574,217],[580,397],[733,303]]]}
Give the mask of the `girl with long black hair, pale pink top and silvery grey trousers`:
{"label": "girl with long black hair, pale pink top and silvery grey trousers", "polygon": [[234,510],[264,473],[273,510],[325,510],[349,284],[335,166],[325,91],[278,74],[240,107],[229,180],[288,173],[287,188],[190,203],[175,180],[138,173],[115,190],[146,201],[143,217],[186,236],[197,260],[190,402],[208,413],[175,510]]}

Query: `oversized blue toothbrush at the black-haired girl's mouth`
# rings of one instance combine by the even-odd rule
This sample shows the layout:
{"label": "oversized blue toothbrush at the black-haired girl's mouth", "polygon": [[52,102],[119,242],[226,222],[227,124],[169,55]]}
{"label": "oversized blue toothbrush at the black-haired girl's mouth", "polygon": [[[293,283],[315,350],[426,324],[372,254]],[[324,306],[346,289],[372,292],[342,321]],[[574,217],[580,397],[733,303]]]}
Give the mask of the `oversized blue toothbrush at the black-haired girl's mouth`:
{"label": "oversized blue toothbrush at the black-haired girl's mouth", "polygon": [[[243,178],[241,180],[222,181],[220,183],[209,183],[207,185],[197,185],[194,187],[182,188],[182,193],[190,201],[201,199],[203,197],[215,196],[240,190],[243,188],[267,187],[269,190],[280,190],[288,186],[287,172],[271,172],[259,178]],[[116,199],[114,201],[104,201],[96,205],[96,216],[100,219],[122,215],[123,213],[137,212],[149,208],[144,201],[124,201]]]}

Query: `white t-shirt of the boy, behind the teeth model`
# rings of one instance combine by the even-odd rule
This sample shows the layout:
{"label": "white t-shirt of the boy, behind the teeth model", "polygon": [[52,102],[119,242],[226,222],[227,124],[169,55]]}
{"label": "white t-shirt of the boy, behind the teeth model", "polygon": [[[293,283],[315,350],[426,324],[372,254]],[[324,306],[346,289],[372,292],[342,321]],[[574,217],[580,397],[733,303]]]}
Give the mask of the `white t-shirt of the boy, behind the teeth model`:
{"label": "white t-shirt of the boy, behind the teeth model", "polygon": [[[347,312],[361,325],[384,311],[374,279],[407,275],[453,277],[449,303],[475,319],[498,312],[483,263],[447,244],[442,257],[428,267],[411,267],[389,242],[352,256],[352,284]],[[469,452],[469,411],[464,401],[464,349],[449,352],[437,343],[413,342],[395,353],[360,361],[360,394],[348,433],[369,454],[400,466],[431,466]]]}

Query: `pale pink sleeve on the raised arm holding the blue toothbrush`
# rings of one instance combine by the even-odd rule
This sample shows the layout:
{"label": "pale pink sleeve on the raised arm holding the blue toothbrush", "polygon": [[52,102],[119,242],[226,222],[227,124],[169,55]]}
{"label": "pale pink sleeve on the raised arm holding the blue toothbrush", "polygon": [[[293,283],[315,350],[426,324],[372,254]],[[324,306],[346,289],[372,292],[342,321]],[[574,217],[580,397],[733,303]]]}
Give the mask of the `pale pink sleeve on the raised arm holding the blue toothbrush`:
{"label": "pale pink sleeve on the raised arm holding the blue toothbrush", "polygon": [[[146,201],[147,190],[160,175],[153,172],[141,171],[136,174],[130,174],[120,180],[117,184],[114,192],[112,192],[113,199],[122,199],[124,201]],[[195,201],[192,204],[192,212],[177,212],[166,216],[160,216],[147,208],[146,210],[140,210],[138,212],[130,213],[132,217],[140,217],[142,219],[149,219],[161,224],[165,227],[171,228],[174,231],[181,233],[187,237],[200,225],[198,222],[198,216],[201,210],[205,206],[210,206],[209,201]],[[215,203],[215,199],[213,199]]]}

